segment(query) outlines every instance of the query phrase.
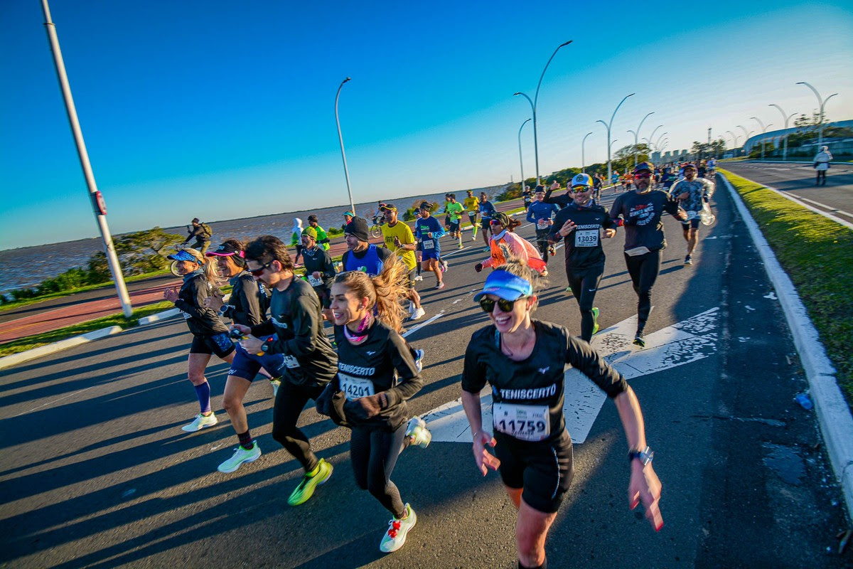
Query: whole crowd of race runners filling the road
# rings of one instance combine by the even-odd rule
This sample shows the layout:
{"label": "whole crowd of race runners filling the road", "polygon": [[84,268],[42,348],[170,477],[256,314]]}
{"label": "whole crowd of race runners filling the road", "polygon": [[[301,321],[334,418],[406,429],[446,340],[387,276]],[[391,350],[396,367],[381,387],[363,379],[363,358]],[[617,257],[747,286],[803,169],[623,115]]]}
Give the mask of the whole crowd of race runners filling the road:
{"label": "whole crowd of race runners filling the road", "polygon": [[[317,412],[349,429],[357,485],[392,514],[380,550],[402,547],[417,516],[392,482],[392,471],[404,449],[426,447],[432,438],[425,421],[407,409],[407,400],[423,385],[425,353],[403,339],[403,322],[425,314],[416,291],[422,272],[432,272],[435,288],[444,288],[447,262],[441,238],[449,235],[461,247],[461,218],[467,215],[472,239],[482,229],[490,253],[473,266],[478,272],[491,269],[473,297],[490,323],[467,345],[461,400],[473,433],[476,467],[484,475],[489,469],[500,472],[518,510],[519,567],[547,566],[545,539],[572,482],[572,443],[562,411],[566,364],[588,375],[616,404],[629,444],[630,508],[642,502],[647,519],[659,530],[661,485],[640,405],[589,341],[599,328],[595,293],[606,262],[601,241],[621,228],[625,264],[637,294],[634,343],[645,346],[652,289],[666,246],[662,217],[682,222],[688,264],[698,240],[693,222],[713,192],[713,184],[696,177],[697,170],[684,165],[683,179],[665,192],[653,189],[655,167],[643,162],[632,172],[635,189],[618,195],[609,210],[597,203],[595,179],[588,174],[573,177],[563,195],[554,195],[559,184],[548,191],[538,186],[525,214],[536,226],[537,247],[515,233],[518,219],[498,212],[485,193],[475,197],[468,191],[461,203],[448,195],[443,208],[423,201],[414,228],[398,218],[396,206],[380,203],[381,245],[369,242],[366,219],[347,212],[347,251],[339,267],[324,247],[328,239],[323,243],[309,224],[300,231],[297,250],[305,263],[304,278],[297,275],[287,244],[273,235],[248,243],[229,239],[206,255],[193,249],[175,253],[171,258],[178,261],[183,284],[166,290],[165,298],[182,312],[193,336],[188,377],[200,406],[183,430],[195,432],[218,422],[205,376],[216,355],[230,364],[223,408],[239,443],[218,470],[231,473],[257,460],[261,450],[242,402],[258,374],[267,378],[275,395],[273,438],[304,470],[288,498],[298,506],[333,472],[297,427],[306,404],[314,401]],[[446,226],[433,209],[444,212]],[[563,325],[532,316],[548,258],[560,242],[581,315],[579,339]],[[232,287],[227,301],[219,290],[223,278]],[[492,425],[483,424],[480,409],[479,393],[486,384],[493,397]]]}

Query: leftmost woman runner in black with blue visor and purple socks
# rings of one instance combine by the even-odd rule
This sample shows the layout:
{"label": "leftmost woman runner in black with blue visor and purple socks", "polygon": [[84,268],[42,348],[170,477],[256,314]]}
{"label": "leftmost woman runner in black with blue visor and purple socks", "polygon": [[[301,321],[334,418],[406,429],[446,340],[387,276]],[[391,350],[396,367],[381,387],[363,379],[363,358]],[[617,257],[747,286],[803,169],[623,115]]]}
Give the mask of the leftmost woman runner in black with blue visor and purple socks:
{"label": "leftmost woman runner in black with blue visor and purple socks", "polygon": [[199,399],[200,413],[193,422],[181,427],[187,433],[200,431],[218,423],[211,409],[211,386],[205,377],[205,368],[216,354],[223,362],[234,359],[234,343],[228,337],[228,328],[219,313],[205,306],[205,299],[218,290],[216,264],[208,262],[195,249],[183,249],[168,256],[177,261],[177,270],[183,276],[180,288],[166,288],[163,298],[175,304],[193,334],[189,346],[187,376]]}

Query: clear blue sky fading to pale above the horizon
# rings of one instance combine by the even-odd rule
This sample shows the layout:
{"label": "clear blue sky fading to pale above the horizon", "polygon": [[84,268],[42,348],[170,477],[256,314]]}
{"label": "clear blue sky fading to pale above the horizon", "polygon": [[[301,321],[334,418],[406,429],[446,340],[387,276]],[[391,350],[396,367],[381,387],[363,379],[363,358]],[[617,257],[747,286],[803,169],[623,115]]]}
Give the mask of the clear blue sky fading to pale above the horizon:
{"label": "clear blue sky fading to pale above the horizon", "polygon": [[[545,174],[663,124],[689,148],[751,116],[853,118],[850,3],[53,0],[113,233],[519,179],[539,95]],[[686,8],[688,6],[688,8]],[[0,2],[0,248],[96,235],[38,0]],[[740,129],[737,129],[740,132]],[[523,135],[534,172],[532,130]]]}

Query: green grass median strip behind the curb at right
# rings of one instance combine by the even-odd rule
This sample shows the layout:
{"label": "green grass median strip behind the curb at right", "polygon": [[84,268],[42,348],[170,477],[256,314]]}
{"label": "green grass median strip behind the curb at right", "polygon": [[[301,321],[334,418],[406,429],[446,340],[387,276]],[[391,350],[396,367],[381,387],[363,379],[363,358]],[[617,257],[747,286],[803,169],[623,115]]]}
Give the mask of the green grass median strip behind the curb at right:
{"label": "green grass median strip behind the curb at right", "polygon": [[853,230],[719,169],[732,183],[809,311],[853,408]]}

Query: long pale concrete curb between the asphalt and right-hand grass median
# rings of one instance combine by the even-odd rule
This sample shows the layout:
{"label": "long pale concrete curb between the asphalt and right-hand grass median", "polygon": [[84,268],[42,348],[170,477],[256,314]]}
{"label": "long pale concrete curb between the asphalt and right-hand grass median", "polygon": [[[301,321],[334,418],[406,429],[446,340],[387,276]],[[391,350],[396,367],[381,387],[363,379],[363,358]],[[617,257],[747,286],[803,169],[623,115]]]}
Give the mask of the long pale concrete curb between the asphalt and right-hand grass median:
{"label": "long pale concrete curb between the asphalt and right-hand grass median", "polygon": [[735,206],[749,229],[752,241],[764,264],[764,270],[779,297],[779,303],[794,338],[800,361],[803,363],[806,378],[809,380],[809,393],[815,403],[818,424],[821,427],[824,444],[829,460],[841,485],[844,502],[847,504],[848,517],[853,516],[853,415],[838,388],[835,369],[821,344],[815,325],[811,322],[803,301],[791,278],[782,269],[773,249],[764,239],[758,224],[746,208],[728,179],[720,174],[732,196]]}

